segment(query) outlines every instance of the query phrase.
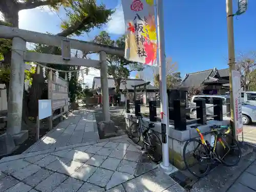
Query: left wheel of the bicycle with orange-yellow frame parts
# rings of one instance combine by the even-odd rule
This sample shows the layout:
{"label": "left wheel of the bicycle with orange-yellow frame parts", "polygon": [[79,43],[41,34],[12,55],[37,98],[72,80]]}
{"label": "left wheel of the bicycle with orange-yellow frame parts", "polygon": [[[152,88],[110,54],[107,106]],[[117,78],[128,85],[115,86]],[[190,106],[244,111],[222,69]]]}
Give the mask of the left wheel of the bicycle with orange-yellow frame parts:
{"label": "left wheel of the bicycle with orange-yellow frame parts", "polygon": [[[194,151],[193,147],[195,147]],[[194,176],[203,177],[209,172],[209,150],[200,140],[190,139],[185,143],[183,159],[187,169]]]}

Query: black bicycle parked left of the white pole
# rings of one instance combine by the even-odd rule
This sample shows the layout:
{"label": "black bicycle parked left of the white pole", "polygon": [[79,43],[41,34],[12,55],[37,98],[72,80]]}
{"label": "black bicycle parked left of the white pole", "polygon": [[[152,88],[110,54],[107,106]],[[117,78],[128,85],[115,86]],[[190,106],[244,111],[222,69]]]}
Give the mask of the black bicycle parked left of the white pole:
{"label": "black bicycle parked left of the white pole", "polygon": [[[136,116],[136,119],[137,122],[133,121],[132,125],[129,127],[131,139],[137,144],[142,135],[142,142],[144,145],[142,150],[145,149],[148,156],[150,156],[153,161],[160,161],[162,158],[162,142],[154,131],[151,130],[151,128],[155,127],[155,124],[148,123],[147,126],[144,126],[142,124],[142,116]],[[151,132],[149,132],[150,130]]]}

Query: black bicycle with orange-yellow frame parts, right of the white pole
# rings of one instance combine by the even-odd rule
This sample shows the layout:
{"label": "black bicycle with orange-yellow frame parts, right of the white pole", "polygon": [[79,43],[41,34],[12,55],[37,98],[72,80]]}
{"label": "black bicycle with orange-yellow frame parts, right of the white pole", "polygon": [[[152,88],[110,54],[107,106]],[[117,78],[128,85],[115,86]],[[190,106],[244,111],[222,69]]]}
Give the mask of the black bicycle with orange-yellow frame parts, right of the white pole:
{"label": "black bicycle with orange-yellow frame parts, right of the white pole", "polygon": [[[203,177],[209,172],[212,163],[234,166],[240,161],[241,148],[231,136],[229,126],[212,125],[211,130],[204,134],[197,126],[190,127],[196,129],[200,136],[200,139],[188,140],[183,148],[184,163],[191,174]],[[204,139],[203,135],[207,134],[213,134],[211,143]]]}

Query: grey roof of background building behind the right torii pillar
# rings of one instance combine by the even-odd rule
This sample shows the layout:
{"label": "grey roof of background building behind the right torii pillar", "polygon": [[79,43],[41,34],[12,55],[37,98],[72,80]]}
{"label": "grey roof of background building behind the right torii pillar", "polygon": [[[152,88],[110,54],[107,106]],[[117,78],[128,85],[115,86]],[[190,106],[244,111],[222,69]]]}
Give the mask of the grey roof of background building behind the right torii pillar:
{"label": "grey roof of background building behind the right torii pillar", "polygon": [[[137,84],[146,83],[146,81],[144,81],[142,79],[124,79],[124,80],[126,81],[126,88],[129,89],[129,90],[134,89],[132,86],[136,86]],[[108,78],[108,84],[109,84],[109,88],[115,88],[114,78]],[[92,87],[92,89],[97,89],[97,88],[100,88],[100,87],[101,87],[100,77],[94,77],[93,78],[93,87]],[[123,83],[121,83],[120,89],[125,90],[125,86],[124,86]],[[147,90],[158,90],[158,88],[156,88],[155,86],[152,86],[151,84],[146,86],[146,89]]]}

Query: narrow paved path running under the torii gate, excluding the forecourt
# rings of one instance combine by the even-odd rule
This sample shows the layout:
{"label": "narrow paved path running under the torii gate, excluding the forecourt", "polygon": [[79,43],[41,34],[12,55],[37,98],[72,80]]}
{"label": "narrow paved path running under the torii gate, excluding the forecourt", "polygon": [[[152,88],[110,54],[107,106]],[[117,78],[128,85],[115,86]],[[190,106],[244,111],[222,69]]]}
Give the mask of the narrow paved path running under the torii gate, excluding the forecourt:
{"label": "narrow paved path running under the torii gate, excluding the forecourt", "polygon": [[65,147],[67,145],[96,142],[99,139],[95,115],[86,110],[69,113],[68,118],[60,122],[38,142],[24,153]]}

